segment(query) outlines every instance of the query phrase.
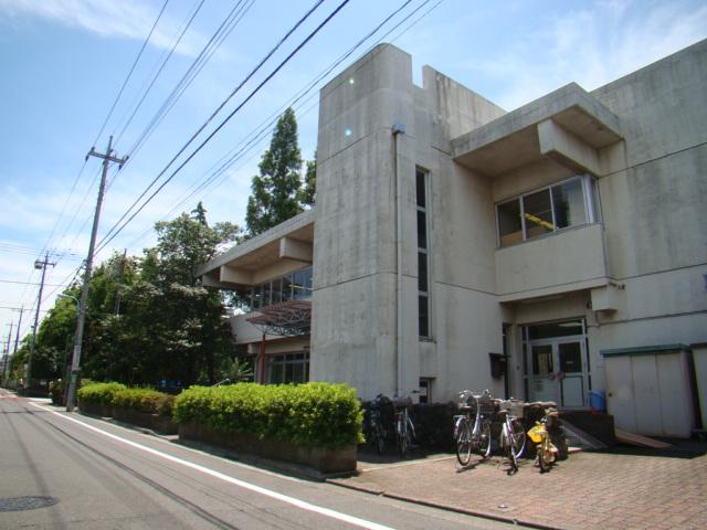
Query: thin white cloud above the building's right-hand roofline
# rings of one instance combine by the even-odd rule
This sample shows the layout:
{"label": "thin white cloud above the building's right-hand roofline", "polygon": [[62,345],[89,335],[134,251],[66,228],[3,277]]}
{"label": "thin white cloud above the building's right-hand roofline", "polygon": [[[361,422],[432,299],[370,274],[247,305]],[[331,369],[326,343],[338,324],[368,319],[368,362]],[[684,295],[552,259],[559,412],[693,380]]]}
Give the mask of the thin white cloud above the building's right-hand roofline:
{"label": "thin white cloud above the building's right-hand roofline", "polygon": [[594,89],[704,39],[707,6],[605,1],[539,28],[468,66],[505,80],[496,103],[506,109],[570,82]]}

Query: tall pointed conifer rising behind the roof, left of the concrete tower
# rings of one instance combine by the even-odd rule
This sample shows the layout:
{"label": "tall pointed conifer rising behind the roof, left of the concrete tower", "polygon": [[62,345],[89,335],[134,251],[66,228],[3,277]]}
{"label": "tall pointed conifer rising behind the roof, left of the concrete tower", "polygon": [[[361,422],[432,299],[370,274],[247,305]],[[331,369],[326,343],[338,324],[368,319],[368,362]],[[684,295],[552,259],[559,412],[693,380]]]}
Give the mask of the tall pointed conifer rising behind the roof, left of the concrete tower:
{"label": "tall pointed conifer rising behind the roof, left of the concrete tower", "polygon": [[299,202],[302,163],[295,112],[287,108],[277,120],[270,149],[263,153],[260,174],[253,177],[245,213],[247,237],[261,234],[303,211]]}

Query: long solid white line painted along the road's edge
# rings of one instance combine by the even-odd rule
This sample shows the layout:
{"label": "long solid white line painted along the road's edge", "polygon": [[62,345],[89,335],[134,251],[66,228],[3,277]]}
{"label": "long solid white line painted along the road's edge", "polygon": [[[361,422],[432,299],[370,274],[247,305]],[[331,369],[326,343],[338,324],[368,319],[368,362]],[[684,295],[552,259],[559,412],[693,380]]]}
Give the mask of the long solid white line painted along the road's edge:
{"label": "long solid white line painted along the road's edge", "polygon": [[[42,409],[44,411],[48,411],[46,409],[44,409],[43,406],[40,406],[35,403],[31,403],[32,405]],[[223,473],[219,473],[219,471],[214,471],[213,469],[209,469],[208,467],[204,466],[200,466],[199,464],[194,464],[192,462],[188,462],[188,460],[182,460],[181,458],[177,458],[176,456],[171,456],[168,455],[167,453],[162,453],[161,451],[157,451],[157,449],[152,449],[151,447],[147,447],[145,445],[138,444],[136,442],[131,442],[129,439],[125,439],[122,438],[120,436],[116,436],[115,434],[108,433],[107,431],[103,431],[98,427],[94,427],[93,425],[89,425],[87,423],[81,422],[74,417],[64,415],[64,414],[60,414],[59,412],[55,411],[48,411],[52,414],[57,415],[59,417],[62,417],[64,420],[68,420],[70,422],[74,422],[77,423],[78,425],[82,425],[91,431],[94,431],[98,434],[102,434],[108,438],[115,439],[116,442],[120,442],[124,443],[126,445],[129,445],[131,447],[135,447],[137,449],[144,451],[146,453],[149,453],[154,456],[158,456],[160,458],[163,458],[169,462],[173,462],[175,464],[181,464],[182,466],[189,467],[191,469],[194,469],[197,471],[203,473],[205,475],[210,475],[214,478],[219,478],[225,483],[230,483],[233,484],[234,486],[239,486],[243,489],[247,489],[250,491],[254,491],[256,494],[263,495],[265,497],[270,497],[272,499],[276,499],[279,500],[282,502],[286,502],[288,505],[292,506],[296,506],[297,508],[300,508],[303,510],[307,510],[307,511],[312,511],[315,513],[319,513],[321,516],[326,516],[326,517],[330,517],[331,519],[337,519],[339,521],[344,521],[344,522],[348,522],[349,524],[354,524],[360,528],[366,528],[366,529],[370,529],[370,530],[393,530],[391,527],[386,527],[383,524],[379,524],[377,522],[372,522],[372,521],[367,521],[366,519],[360,519],[358,517],[354,517],[354,516],[349,516],[347,513],[341,513],[339,511],[335,511],[335,510],[330,510],[329,508],[324,508],[321,506],[317,506],[317,505],[313,505],[310,502],[306,502],[304,500],[299,500],[296,499],[294,497],[289,497],[287,495],[283,495],[283,494],[278,494],[277,491],[273,491],[271,489],[266,489],[266,488],[262,488],[260,486],[255,486],[254,484],[251,483],[246,483],[244,480],[239,480],[238,478],[233,478],[229,475],[224,475]]]}

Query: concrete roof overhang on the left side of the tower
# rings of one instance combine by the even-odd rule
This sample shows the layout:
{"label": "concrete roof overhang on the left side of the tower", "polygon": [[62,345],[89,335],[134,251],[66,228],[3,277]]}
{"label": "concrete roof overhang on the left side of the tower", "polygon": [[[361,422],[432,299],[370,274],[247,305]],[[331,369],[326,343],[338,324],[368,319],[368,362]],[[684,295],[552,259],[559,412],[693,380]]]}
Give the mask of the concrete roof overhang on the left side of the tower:
{"label": "concrete roof overhang on the left side of the tower", "polygon": [[312,264],[314,209],[273,226],[197,269],[203,285],[243,289]]}

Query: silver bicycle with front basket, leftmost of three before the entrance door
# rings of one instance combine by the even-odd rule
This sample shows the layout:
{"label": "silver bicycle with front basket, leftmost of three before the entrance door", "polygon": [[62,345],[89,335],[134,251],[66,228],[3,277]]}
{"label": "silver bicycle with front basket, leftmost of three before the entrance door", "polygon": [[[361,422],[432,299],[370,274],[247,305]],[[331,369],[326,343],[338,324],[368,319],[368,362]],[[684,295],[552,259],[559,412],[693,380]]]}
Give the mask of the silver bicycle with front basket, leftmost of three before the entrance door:
{"label": "silver bicycle with front basket, leftmost of three before the entrance door", "polygon": [[[476,407],[474,424],[472,426],[468,401],[473,400]],[[460,393],[460,409],[463,415],[454,416],[454,441],[456,443],[456,459],[462,466],[466,466],[472,458],[472,451],[477,451],[483,459],[490,455],[490,422],[487,416],[493,412],[492,395],[488,390],[475,395],[468,390]]]}

